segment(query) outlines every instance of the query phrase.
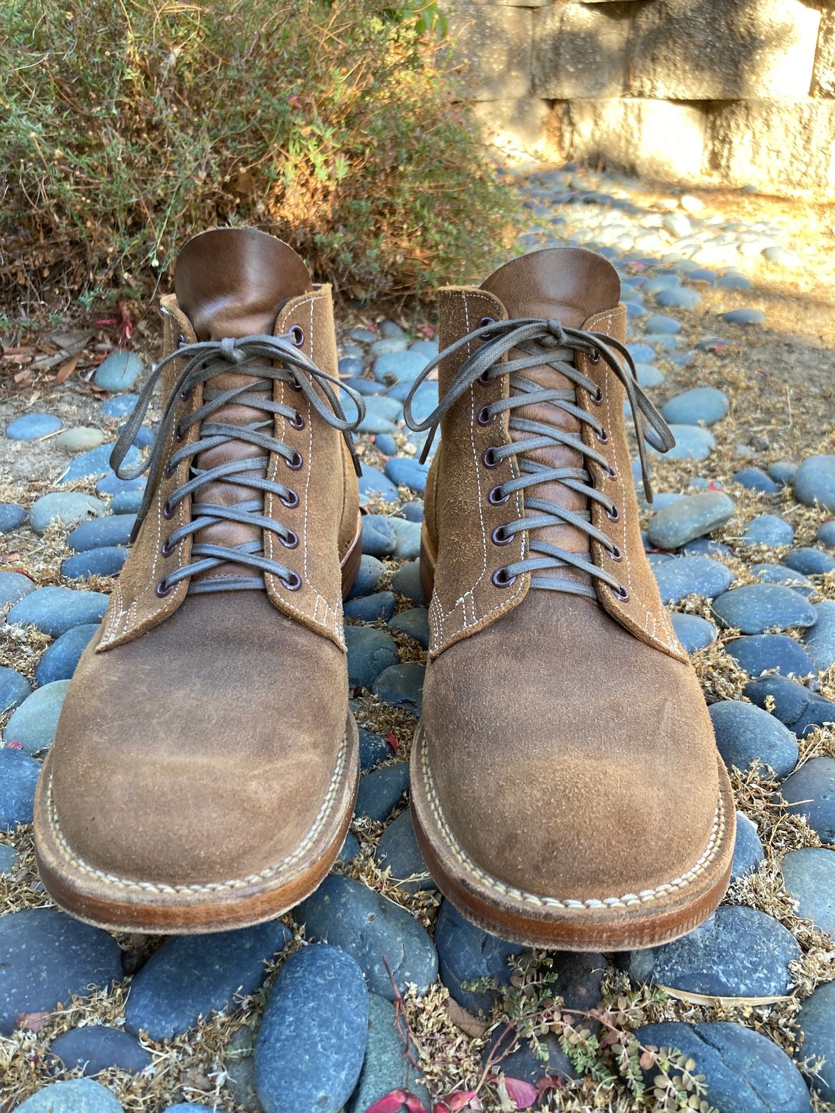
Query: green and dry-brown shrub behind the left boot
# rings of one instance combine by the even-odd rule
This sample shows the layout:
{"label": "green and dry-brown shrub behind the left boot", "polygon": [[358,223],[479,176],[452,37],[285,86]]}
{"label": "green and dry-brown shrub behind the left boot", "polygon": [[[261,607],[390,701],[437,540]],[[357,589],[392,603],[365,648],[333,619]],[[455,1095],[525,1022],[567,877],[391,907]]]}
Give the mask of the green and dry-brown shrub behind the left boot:
{"label": "green and dry-brown shrub behind the left boot", "polygon": [[343,296],[478,275],[513,206],[452,101],[434,4],[6,0],[4,301],[145,297],[253,224]]}

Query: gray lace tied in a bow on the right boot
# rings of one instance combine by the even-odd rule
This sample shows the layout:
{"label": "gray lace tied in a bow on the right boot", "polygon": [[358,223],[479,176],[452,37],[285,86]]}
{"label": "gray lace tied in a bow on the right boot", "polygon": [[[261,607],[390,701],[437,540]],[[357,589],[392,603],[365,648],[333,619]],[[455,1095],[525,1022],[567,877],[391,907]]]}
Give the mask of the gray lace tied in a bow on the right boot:
{"label": "gray lace tied in a bow on the right boot", "polygon": [[[412,415],[412,400],[415,391],[434,367],[468,345],[477,345],[475,351],[459,367],[439,406],[425,421],[416,422]],[[525,354],[513,359],[504,359],[503,357],[511,348],[517,348]],[[644,490],[647,499],[651,502],[652,491],[649,483],[649,462],[645,442],[659,452],[667,452],[676,443],[672,433],[636,382],[632,357],[622,344],[605,333],[567,328],[558,321],[536,317],[523,317],[515,321],[483,318],[479,328],[451,344],[423,368],[414,381],[403,406],[403,413],[410,429],[415,432],[430,431],[421,460],[426,459],[432,439],[443,415],[477,380],[492,382],[500,375],[510,375],[510,397],[484,406],[479,412],[478,420],[481,424],[489,424],[499,414],[508,412],[510,414],[508,427],[528,435],[511,444],[491,447],[484,454],[483,462],[487,467],[493,467],[509,456],[515,456],[519,465],[518,475],[490,491],[490,501],[498,505],[507,502],[517,491],[525,491],[540,483],[559,482],[571,491],[583,495],[590,503],[599,503],[607,515],[612,521],[617,521],[620,511],[609,495],[597,490],[586,467],[551,467],[529,459],[528,453],[537,449],[563,445],[580,453],[584,461],[593,460],[609,471],[606,457],[596,449],[587,445],[578,433],[561,430],[546,422],[513,415],[513,411],[522,406],[550,403],[578,422],[589,425],[600,443],[606,443],[609,434],[600,420],[593,413],[581,408],[577,403],[578,391],[586,391],[592,402],[602,401],[602,393],[595,382],[574,366],[573,357],[577,352],[583,353],[595,363],[603,359],[626,388],[638,440]],[[570,383],[574,384],[574,390],[548,390],[530,378],[525,378],[523,373],[528,368],[542,364],[559,371]],[[592,579],[592,582],[597,579],[607,583],[617,595],[625,598],[623,589],[617,579],[606,569],[593,564],[588,553],[569,552],[559,545],[530,535],[532,531],[547,526],[572,525],[590,540],[598,541],[610,554],[619,555],[618,546],[602,530],[592,524],[590,511],[568,510],[556,502],[540,498],[525,498],[524,509],[536,513],[508,522],[493,534],[499,544],[510,541],[519,532],[525,533],[528,538],[523,559],[500,570],[501,575],[495,581],[500,587],[512,583],[517,575],[525,572],[570,568],[586,573]],[[566,577],[532,575],[531,587],[596,598],[595,589],[589,583],[581,583]]]}

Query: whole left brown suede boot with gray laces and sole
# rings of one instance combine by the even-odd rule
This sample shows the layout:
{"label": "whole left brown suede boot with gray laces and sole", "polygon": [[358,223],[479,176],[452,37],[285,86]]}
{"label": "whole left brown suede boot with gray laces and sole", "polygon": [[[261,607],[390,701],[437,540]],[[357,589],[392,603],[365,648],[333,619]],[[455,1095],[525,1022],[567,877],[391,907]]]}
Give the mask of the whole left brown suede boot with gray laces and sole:
{"label": "whole left brown suede boot with gray laces and sole", "polygon": [[291,908],[351,820],[358,418],[337,401],[331,289],[285,244],[207,232],[174,285],[165,357],[114,452],[160,376],[141,529],[67,693],[35,839],[75,916],[189,933]]}

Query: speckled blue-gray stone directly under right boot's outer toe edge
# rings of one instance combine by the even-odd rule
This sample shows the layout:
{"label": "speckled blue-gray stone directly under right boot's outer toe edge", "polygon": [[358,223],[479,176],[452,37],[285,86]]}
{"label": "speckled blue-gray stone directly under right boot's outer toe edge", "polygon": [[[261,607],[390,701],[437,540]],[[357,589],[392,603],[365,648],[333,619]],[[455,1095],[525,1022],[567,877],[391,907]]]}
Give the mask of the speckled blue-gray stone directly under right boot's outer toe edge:
{"label": "speckled blue-gray stone directly under right boot's outer toe edge", "polygon": [[789,992],[788,964],[799,957],[797,940],[773,916],[721,905],[680,939],[632,951],[626,966],[639,984],[717,997],[772,997]]}

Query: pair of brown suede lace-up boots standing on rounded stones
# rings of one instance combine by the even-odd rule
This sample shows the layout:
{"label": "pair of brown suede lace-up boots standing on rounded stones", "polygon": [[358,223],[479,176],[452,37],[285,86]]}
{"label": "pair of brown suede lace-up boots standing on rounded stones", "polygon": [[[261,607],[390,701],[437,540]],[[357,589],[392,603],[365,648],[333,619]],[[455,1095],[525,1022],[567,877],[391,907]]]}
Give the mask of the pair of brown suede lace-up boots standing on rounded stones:
{"label": "pair of brown suede lace-up boots standing on rounded stones", "polygon": [[[358,777],[342,599],[361,553],[327,286],[285,244],[186,245],[163,302],[164,415],[138,538],[79,663],[35,817],[55,899],[187,933],[286,912],[331,868]],[[720,900],[734,806],[644,553],[627,444],[672,443],[578,248],[440,294],[442,440],[411,806],[466,916],[525,944],[650,946]],[[413,388],[414,390],[414,388]],[[125,474],[122,472],[122,474]]]}

